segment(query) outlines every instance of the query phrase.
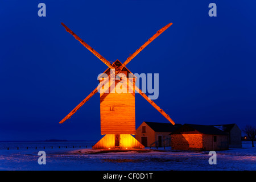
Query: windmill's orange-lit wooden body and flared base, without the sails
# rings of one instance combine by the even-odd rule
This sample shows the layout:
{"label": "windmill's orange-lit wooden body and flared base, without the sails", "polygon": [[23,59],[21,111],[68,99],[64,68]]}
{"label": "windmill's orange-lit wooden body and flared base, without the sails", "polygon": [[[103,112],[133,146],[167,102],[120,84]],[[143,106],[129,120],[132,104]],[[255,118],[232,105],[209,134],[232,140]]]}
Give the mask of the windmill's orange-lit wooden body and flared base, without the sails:
{"label": "windmill's orange-lit wooden body and flared base, without the sails", "polygon": [[[116,60],[113,65],[122,65]],[[110,68],[104,73],[110,74]],[[131,76],[133,85],[136,77],[124,67],[121,72],[128,79]],[[101,80],[98,78],[98,80]],[[103,80],[102,80],[103,81]],[[101,82],[101,81],[100,81]],[[111,81],[109,80],[109,85]],[[122,82],[122,84],[120,84]],[[119,85],[122,85],[121,88]],[[127,85],[127,86],[126,86]],[[105,135],[93,148],[144,148],[137,139],[131,136],[135,130],[135,92],[134,87],[128,87],[128,80],[115,79],[114,90],[110,86],[107,93],[100,93],[100,113],[101,113],[101,135]],[[121,90],[122,89],[122,90]],[[133,92],[129,93],[129,89]],[[125,91],[125,92],[122,92]]]}

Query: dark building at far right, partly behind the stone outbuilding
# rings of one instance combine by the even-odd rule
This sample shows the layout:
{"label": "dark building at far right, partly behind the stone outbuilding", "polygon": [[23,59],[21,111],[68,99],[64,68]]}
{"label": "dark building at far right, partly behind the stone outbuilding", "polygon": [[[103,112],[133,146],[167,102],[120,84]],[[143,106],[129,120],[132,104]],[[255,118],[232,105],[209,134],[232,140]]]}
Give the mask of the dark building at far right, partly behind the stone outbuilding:
{"label": "dark building at far right, partly behind the stone outbuilding", "polygon": [[229,148],[242,148],[241,130],[235,123],[213,126],[229,135]]}

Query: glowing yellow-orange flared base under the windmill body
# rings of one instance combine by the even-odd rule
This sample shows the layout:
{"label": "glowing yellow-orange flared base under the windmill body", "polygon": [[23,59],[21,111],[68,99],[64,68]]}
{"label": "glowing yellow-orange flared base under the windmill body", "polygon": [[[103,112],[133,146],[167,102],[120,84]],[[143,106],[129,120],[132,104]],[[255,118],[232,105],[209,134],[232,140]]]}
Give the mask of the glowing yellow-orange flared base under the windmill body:
{"label": "glowing yellow-orange flared base under the windmill body", "polygon": [[130,134],[107,134],[98,141],[93,149],[100,148],[145,148]]}

